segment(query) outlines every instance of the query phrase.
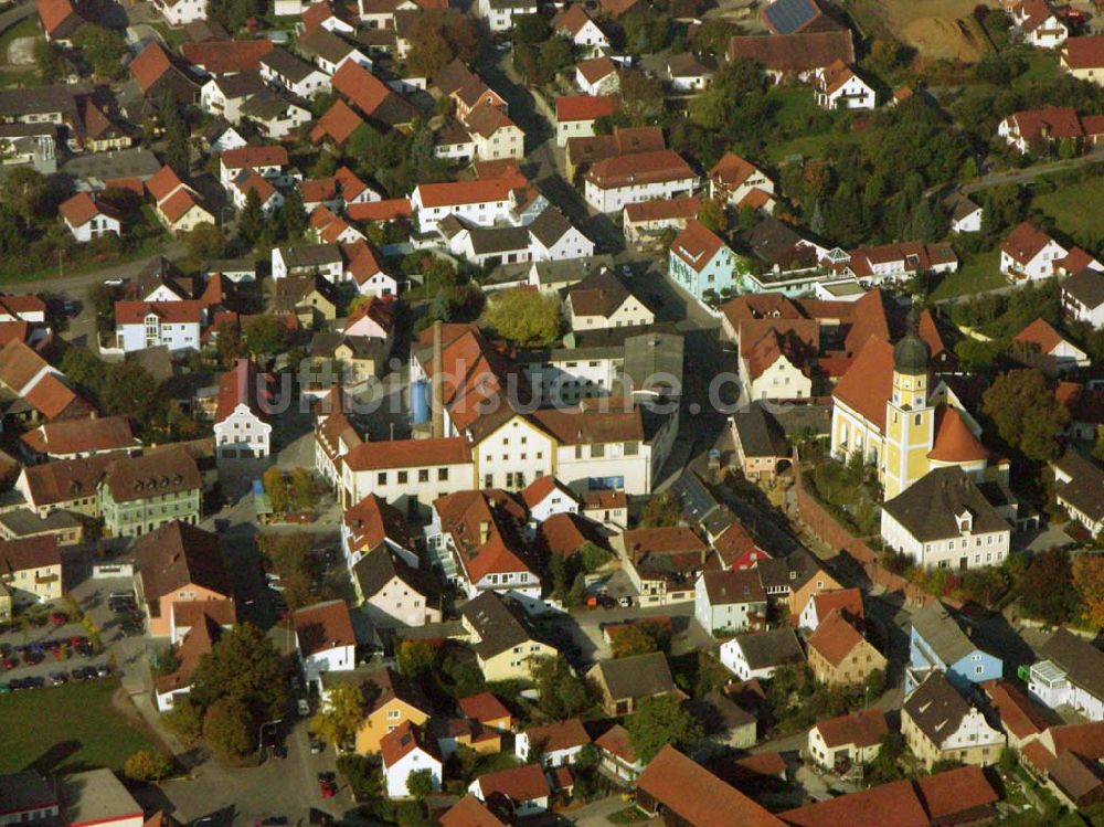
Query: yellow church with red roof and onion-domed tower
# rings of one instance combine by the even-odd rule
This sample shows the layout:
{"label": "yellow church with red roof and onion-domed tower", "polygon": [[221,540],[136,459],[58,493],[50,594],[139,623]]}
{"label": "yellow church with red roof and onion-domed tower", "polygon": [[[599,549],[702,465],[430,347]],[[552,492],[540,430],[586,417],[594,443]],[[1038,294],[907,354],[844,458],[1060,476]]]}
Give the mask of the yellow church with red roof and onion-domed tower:
{"label": "yellow church with red roof and onion-domed tower", "polygon": [[895,346],[868,339],[832,392],[831,455],[861,455],[878,469],[885,500],[936,468],[958,466],[981,480],[989,465],[981,426],[933,377],[916,327],[913,316]]}

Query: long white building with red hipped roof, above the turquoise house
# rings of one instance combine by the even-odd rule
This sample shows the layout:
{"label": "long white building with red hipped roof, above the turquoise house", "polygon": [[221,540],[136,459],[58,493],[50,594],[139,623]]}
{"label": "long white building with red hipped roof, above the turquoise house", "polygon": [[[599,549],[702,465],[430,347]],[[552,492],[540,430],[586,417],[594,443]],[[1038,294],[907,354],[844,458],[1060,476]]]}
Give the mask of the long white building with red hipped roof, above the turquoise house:
{"label": "long white building with red hipped roof, above the turquoise house", "polygon": [[598,212],[620,212],[627,204],[693,194],[698,178],[678,152],[660,149],[606,158],[584,177],[583,198]]}

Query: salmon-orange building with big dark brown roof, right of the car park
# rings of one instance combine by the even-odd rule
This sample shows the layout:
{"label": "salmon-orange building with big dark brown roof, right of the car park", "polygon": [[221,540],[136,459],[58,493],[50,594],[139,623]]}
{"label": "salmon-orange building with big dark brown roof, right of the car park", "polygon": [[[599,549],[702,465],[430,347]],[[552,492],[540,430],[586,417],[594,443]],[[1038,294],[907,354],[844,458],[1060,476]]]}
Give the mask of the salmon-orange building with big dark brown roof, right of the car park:
{"label": "salmon-orange building with big dark brown roof, right of the car park", "polygon": [[233,604],[216,534],[170,522],[139,538],[136,556],[135,586],[150,637],[178,639],[178,609],[217,612],[224,611],[219,603]]}

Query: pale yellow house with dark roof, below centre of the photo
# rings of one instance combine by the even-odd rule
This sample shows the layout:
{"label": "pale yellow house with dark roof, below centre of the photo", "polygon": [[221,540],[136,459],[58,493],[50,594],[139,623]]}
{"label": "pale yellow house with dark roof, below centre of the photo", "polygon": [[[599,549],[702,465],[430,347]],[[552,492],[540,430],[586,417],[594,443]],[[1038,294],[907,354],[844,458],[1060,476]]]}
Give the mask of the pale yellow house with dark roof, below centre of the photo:
{"label": "pale yellow house with dark roof, below centre of the photo", "polygon": [[559,651],[537,639],[524,609],[508,604],[498,592],[484,592],[460,609],[476,660],[486,680],[528,680],[534,658]]}

